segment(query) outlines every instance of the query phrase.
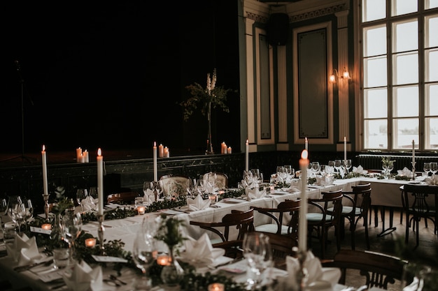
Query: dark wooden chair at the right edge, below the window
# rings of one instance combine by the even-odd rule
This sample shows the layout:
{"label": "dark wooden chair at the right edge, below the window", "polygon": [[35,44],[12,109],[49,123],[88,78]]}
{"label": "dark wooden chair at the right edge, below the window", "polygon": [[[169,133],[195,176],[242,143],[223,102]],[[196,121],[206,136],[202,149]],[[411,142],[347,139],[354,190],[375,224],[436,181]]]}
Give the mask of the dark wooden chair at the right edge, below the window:
{"label": "dark wooden chair at the right edge, below the window", "polygon": [[[432,221],[434,233],[437,234],[438,186],[405,184],[400,186],[400,190],[403,195],[402,201],[406,215],[406,234],[404,236],[404,242],[408,244],[409,230],[412,227],[414,232],[416,232],[416,246],[414,248],[417,248],[420,239],[419,227],[421,219],[424,219],[425,227],[428,227],[428,220]],[[435,200],[435,204],[431,203],[432,200]]]}

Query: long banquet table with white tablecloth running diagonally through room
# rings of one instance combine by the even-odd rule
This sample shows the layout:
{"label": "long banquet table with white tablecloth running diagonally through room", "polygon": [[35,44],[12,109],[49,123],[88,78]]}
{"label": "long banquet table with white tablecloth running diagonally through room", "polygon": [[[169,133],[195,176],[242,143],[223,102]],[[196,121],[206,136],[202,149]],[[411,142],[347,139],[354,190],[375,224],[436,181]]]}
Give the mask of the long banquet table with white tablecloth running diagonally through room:
{"label": "long banquet table with white tablecloth running diagonally through room", "polygon": [[[358,177],[353,179],[337,179],[334,180],[333,184],[329,186],[309,186],[307,189],[306,196],[307,197],[320,197],[321,193],[326,191],[336,191],[342,189],[344,191],[351,190],[351,186],[355,186],[356,184],[360,184],[362,182],[371,182],[372,183],[372,203],[376,205],[386,205],[390,207],[400,207],[401,205],[401,196],[399,187],[402,184],[408,183],[409,181],[397,181],[394,179],[390,180],[379,180],[376,178],[365,178]],[[373,195],[374,193],[379,193],[379,195]],[[251,201],[246,200],[233,200],[230,202],[217,202],[218,208],[203,209],[199,211],[178,211],[178,209],[171,209],[171,212],[164,213],[177,215],[178,218],[185,221],[187,234],[194,238],[198,239],[201,235],[206,232],[202,230],[200,227],[196,225],[190,225],[190,221],[220,221],[222,216],[228,214],[232,209],[246,210],[251,206],[257,207],[276,207],[278,203],[284,200],[295,200],[299,198],[301,193],[299,191],[290,193],[287,190],[281,191],[276,190],[268,193],[267,196],[262,197],[260,199],[255,199]],[[106,241],[113,239],[122,239],[125,243],[125,249],[127,251],[132,251],[134,244],[134,237],[136,232],[139,231],[139,227],[141,227],[141,223],[143,222],[143,218],[145,216],[157,216],[163,212],[155,212],[144,215],[137,215],[133,217],[104,221],[104,239]],[[263,216],[262,214],[255,213],[255,225],[260,225],[262,223],[269,222],[267,216]],[[83,225],[83,230],[85,232],[89,232],[94,237],[98,237],[97,235],[98,223],[90,222]],[[209,233],[209,232],[208,232]],[[236,233],[230,234],[230,239]],[[216,234],[209,233],[211,239],[217,239],[215,237]],[[22,283],[31,283],[34,286],[34,290],[42,290],[48,291],[52,290],[52,286],[54,284],[43,283],[39,280],[38,274],[35,274],[31,271],[24,271],[22,273],[17,273],[13,271],[13,267],[15,267],[15,262],[13,262],[10,258],[0,258],[0,269],[2,270],[3,276],[7,278],[15,278],[17,281],[21,281]],[[104,269],[105,276],[111,273],[111,269]],[[284,275],[284,274],[283,274]],[[133,281],[136,275],[132,270],[124,269],[122,270],[122,277],[125,281]],[[68,290],[66,286],[59,288],[59,290]],[[105,285],[104,290],[130,290],[128,288],[115,288],[110,285]]]}

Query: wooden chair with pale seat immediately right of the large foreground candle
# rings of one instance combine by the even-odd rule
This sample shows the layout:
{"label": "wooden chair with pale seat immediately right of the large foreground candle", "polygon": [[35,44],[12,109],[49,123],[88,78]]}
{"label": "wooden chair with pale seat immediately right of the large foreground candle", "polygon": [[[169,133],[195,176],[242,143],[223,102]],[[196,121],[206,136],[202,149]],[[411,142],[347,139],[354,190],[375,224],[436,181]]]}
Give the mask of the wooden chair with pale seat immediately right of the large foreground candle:
{"label": "wooden chair with pale seat immediately right of the large foreground candle", "polygon": [[[315,211],[309,211],[306,214],[307,219],[307,236],[308,244],[311,245],[313,238],[318,239],[321,248],[320,258],[325,257],[327,248],[327,233],[330,227],[334,227],[337,250],[341,249],[340,222],[342,212],[342,190],[321,193],[323,197],[318,199],[309,199],[309,209],[311,206]],[[332,209],[327,211],[327,209]],[[313,234],[316,233],[316,234]]]}

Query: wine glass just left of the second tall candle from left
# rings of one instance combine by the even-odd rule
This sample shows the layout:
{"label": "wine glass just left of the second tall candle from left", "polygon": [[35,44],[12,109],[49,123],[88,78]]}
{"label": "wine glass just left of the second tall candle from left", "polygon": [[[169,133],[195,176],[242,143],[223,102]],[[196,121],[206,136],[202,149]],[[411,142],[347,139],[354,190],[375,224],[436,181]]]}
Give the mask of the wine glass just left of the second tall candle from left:
{"label": "wine glass just left of the second tall candle from left", "polygon": [[[73,209],[66,209],[61,219],[61,233],[62,239],[69,244],[70,262],[73,262],[75,241],[80,234],[80,230],[82,230],[82,218],[80,213],[75,213]],[[100,243],[103,244],[102,241]]]}

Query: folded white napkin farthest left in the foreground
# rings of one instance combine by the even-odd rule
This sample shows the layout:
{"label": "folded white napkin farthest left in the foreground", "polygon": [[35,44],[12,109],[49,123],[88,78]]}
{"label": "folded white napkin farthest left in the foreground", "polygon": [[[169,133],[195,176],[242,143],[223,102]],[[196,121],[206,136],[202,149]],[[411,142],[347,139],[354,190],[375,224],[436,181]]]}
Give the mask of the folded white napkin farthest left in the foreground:
{"label": "folded white napkin farthest left in the foreground", "polygon": [[6,251],[8,257],[18,262],[17,266],[23,266],[43,258],[43,255],[38,251],[38,246],[36,246],[36,237],[29,239],[26,234],[22,234],[21,237],[16,234],[14,244],[6,244]]}

